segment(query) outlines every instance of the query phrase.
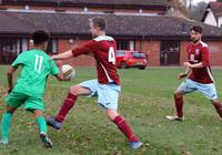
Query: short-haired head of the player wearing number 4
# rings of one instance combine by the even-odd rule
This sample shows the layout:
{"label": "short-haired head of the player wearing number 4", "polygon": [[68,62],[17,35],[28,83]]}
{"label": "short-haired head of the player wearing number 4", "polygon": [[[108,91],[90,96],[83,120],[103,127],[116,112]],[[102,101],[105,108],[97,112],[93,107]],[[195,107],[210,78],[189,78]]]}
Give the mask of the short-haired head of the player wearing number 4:
{"label": "short-haired head of the player wearing number 4", "polygon": [[92,37],[99,37],[105,32],[107,21],[103,18],[92,18],[90,21],[90,32]]}

